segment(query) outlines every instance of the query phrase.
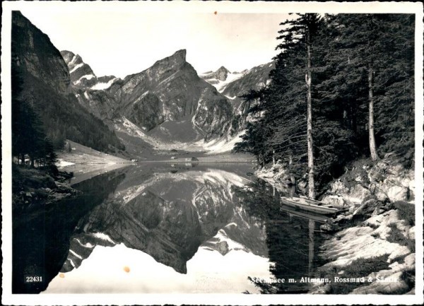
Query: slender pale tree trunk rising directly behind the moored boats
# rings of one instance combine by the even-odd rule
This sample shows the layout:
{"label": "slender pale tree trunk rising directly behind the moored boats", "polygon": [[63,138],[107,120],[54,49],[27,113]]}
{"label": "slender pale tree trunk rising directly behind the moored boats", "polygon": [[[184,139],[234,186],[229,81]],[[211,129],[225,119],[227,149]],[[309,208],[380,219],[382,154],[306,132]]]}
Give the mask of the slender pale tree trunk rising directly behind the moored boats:
{"label": "slender pale tree trunk rising directly behind the moored boats", "polygon": [[307,37],[307,40],[307,74],[305,77],[307,88],[307,194],[311,199],[315,199],[314,148],[312,142],[311,47],[309,37]]}

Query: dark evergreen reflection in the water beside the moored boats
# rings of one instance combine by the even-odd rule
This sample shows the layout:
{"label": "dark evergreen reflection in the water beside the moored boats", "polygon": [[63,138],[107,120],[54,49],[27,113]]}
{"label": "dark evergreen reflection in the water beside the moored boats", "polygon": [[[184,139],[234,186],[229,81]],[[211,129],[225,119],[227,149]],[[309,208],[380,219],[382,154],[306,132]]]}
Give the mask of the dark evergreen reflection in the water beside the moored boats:
{"label": "dark evergreen reflection in the water beside the moored boats", "polygon": [[[264,180],[235,188],[250,216],[264,220],[270,271],[275,278],[271,281],[285,279],[285,283],[255,282],[255,286],[261,293],[306,293],[310,284],[301,282],[302,278],[314,277],[315,269],[323,264],[317,257],[323,239],[316,233],[319,223],[281,211],[280,196],[286,196],[289,189],[287,194],[278,192]],[[289,278],[295,282],[289,283]],[[249,279],[256,280],[255,276]]]}

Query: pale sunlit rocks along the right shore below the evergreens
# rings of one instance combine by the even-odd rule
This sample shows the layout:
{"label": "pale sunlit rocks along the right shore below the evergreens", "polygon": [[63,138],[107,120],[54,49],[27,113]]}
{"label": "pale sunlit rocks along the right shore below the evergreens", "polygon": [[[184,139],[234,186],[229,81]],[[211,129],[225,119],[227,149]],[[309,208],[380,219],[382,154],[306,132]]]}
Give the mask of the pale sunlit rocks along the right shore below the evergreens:
{"label": "pale sunlit rocks along the right shore below the evergreens", "polygon": [[[283,192],[290,183],[278,163],[257,176]],[[390,155],[377,163],[358,160],[331,182],[321,200],[348,209],[321,226],[333,236],[320,247],[328,262],[317,277],[330,282],[314,283],[310,293],[414,294],[414,192],[413,169]]]}

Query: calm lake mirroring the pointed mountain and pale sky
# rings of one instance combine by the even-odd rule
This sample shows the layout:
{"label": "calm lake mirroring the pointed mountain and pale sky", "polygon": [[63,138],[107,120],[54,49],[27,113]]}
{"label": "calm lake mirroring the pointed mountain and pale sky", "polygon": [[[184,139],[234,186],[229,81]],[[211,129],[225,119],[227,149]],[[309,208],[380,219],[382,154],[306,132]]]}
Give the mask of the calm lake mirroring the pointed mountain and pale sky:
{"label": "calm lake mirroring the pointed mountain and pale sky", "polygon": [[13,291],[307,292],[320,221],[281,211],[252,167],[140,163],[81,182],[75,172],[81,196],[14,225]]}

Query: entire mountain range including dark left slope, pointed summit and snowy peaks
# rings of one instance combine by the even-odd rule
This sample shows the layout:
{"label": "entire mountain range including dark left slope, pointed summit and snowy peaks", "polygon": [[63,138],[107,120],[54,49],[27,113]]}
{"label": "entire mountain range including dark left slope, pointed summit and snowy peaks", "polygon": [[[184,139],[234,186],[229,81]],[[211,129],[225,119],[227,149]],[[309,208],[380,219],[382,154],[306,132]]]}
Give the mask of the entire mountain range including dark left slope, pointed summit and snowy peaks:
{"label": "entire mountain range including dark left slope, pointed summit and snowy peaks", "polygon": [[[121,138],[124,143],[151,148],[157,147],[152,143],[179,148],[193,144],[195,150],[208,151],[211,141],[235,143],[244,128],[248,107],[237,98],[242,94],[237,88],[257,88],[249,81],[266,83],[266,73],[248,78],[249,71],[231,73],[225,67],[209,73],[209,78],[199,77],[184,49],[124,79],[96,76],[81,55],[59,52],[47,35],[19,16],[13,18],[18,25],[13,32],[13,63],[22,71],[25,93],[44,110],[40,115],[48,136],[58,143],[67,138],[100,151],[122,151],[114,132],[119,134],[125,129],[122,124],[129,122],[144,136]],[[211,85],[212,78],[225,88],[231,85],[234,96],[220,93],[225,88]]]}

